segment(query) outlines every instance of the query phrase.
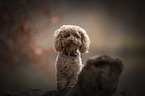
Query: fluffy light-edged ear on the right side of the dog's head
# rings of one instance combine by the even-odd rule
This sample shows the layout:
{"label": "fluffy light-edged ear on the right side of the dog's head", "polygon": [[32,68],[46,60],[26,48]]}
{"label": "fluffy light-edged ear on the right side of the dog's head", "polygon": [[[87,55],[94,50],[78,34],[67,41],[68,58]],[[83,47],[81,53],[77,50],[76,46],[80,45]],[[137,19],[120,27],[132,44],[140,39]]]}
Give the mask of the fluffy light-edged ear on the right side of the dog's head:
{"label": "fluffy light-edged ear on the right side of the dog's head", "polygon": [[82,45],[79,47],[81,53],[87,53],[90,46],[90,38],[86,31],[80,31]]}

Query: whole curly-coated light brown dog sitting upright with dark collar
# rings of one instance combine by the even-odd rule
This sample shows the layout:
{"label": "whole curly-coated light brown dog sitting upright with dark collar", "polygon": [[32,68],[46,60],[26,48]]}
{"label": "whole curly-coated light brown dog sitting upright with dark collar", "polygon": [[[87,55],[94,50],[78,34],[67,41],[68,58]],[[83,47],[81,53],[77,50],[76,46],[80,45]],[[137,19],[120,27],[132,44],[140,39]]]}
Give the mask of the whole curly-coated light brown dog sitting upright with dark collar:
{"label": "whole curly-coated light brown dog sitting upright with dark collar", "polygon": [[88,52],[90,39],[86,31],[75,25],[63,25],[54,34],[57,89],[74,86],[82,70],[81,53]]}

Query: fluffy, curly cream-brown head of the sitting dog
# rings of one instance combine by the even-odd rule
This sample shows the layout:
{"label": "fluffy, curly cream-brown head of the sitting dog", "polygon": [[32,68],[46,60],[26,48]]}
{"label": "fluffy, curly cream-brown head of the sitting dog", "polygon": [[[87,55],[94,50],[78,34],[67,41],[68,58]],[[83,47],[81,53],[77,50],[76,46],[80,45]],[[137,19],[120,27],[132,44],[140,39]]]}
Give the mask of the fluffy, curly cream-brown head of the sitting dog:
{"label": "fluffy, curly cream-brown head of the sitting dog", "polygon": [[59,52],[79,49],[81,53],[88,51],[90,39],[86,31],[75,25],[63,25],[55,31],[54,46]]}

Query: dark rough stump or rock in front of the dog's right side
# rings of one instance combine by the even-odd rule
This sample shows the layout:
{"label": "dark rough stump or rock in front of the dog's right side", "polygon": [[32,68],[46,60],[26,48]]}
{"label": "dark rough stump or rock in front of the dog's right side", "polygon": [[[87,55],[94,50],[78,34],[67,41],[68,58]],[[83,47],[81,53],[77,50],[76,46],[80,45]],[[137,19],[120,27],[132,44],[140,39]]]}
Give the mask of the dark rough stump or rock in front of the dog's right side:
{"label": "dark rough stump or rock in front of the dog's right side", "polygon": [[121,96],[117,86],[122,70],[120,59],[107,55],[92,57],[80,73],[77,84],[66,96]]}

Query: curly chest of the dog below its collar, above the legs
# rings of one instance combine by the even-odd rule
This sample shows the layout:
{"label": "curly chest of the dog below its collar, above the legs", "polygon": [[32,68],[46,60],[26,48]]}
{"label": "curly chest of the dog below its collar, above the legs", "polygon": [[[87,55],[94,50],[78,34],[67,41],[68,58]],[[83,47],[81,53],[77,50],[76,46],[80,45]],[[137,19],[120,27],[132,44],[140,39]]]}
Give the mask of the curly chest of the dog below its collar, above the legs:
{"label": "curly chest of the dog below its collar, above the legs", "polygon": [[67,56],[59,54],[56,61],[57,70],[64,72],[65,74],[79,73],[82,68],[82,61],[80,55]]}

